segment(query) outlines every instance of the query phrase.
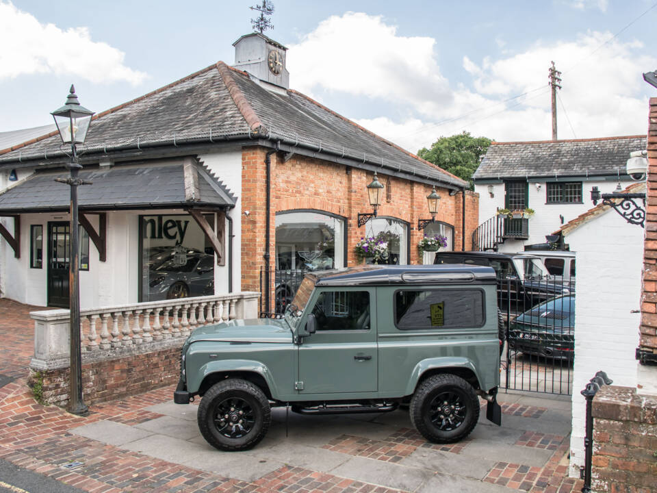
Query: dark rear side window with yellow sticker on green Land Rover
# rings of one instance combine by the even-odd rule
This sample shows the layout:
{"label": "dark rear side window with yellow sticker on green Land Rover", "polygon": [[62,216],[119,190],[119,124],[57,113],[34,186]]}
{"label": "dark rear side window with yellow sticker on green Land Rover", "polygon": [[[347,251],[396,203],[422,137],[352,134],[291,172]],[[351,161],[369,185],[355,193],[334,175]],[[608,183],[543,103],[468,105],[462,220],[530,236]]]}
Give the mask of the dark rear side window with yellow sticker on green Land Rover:
{"label": "dark rear side window with yellow sticker on green Land Rover", "polygon": [[484,324],[483,290],[400,290],[394,296],[395,325],[401,330]]}

